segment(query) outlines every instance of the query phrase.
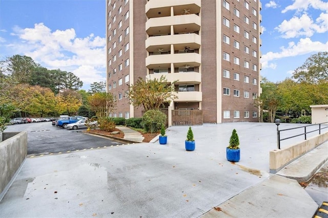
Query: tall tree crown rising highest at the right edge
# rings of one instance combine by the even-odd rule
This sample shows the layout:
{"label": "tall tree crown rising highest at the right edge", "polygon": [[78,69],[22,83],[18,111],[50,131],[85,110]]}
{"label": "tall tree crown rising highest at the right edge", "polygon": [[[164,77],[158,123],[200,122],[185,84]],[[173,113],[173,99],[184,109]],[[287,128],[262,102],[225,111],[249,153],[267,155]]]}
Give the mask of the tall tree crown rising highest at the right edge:
{"label": "tall tree crown rising highest at the right edge", "polygon": [[293,78],[315,84],[328,81],[328,52],[311,55],[294,71]]}

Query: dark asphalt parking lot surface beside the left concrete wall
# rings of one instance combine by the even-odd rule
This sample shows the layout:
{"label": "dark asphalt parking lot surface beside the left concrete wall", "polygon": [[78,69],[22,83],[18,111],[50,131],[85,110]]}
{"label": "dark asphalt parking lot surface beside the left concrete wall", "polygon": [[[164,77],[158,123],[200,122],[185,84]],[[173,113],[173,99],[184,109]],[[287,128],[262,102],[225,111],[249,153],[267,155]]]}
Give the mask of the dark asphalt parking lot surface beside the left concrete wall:
{"label": "dark asphalt parking lot surface beside the left concrete wall", "polygon": [[85,134],[84,129],[68,130],[51,125],[51,122],[10,125],[5,132],[27,132],[27,154],[58,154],[104,146],[120,145],[121,142]]}

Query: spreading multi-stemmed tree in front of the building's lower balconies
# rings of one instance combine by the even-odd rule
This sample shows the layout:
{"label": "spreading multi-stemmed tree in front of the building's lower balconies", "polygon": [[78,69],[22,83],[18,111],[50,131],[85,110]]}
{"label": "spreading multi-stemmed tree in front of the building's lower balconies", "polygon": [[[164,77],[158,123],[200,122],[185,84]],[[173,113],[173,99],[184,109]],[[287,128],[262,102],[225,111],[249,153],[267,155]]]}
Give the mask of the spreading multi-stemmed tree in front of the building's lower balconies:
{"label": "spreading multi-stemmed tree in front of the building's lower balconies", "polygon": [[176,99],[174,95],[174,83],[168,84],[165,76],[159,79],[144,80],[138,78],[137,82],[130,86],[129,98],[133,106],[144,106],[145,111],[159,110],[164,102]]}

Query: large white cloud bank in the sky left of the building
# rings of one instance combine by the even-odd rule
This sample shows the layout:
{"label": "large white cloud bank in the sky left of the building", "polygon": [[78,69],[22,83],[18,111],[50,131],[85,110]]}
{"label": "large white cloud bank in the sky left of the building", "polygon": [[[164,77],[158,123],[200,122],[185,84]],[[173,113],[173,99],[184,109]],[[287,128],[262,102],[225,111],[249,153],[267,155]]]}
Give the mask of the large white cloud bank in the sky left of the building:
{"label": "large white cloud bank in the sky left of the building", "polygon": [[[106,39],[90,34],[78,38],[74,29],[52,31],[43,23],[34,28],[13,28],[19,42],[7,46],[48,69],[74,73],[84,84],[106,79]],[[23,43],[24,42],[24,43]]]}

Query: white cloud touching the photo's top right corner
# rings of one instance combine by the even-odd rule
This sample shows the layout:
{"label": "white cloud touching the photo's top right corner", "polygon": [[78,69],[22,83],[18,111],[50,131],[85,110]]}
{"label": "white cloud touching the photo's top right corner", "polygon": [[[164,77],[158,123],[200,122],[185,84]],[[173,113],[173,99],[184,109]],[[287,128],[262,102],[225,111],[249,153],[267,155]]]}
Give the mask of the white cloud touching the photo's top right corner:
{"label": "white cloud touching the photo's top right corner", "polygon": [[290,10],[296,10],[297,12],[307,11],[309,7],[328,12],[328,2],[321,0],[294,0],[293,5],[287,6],[281,12],[285,13]]}

